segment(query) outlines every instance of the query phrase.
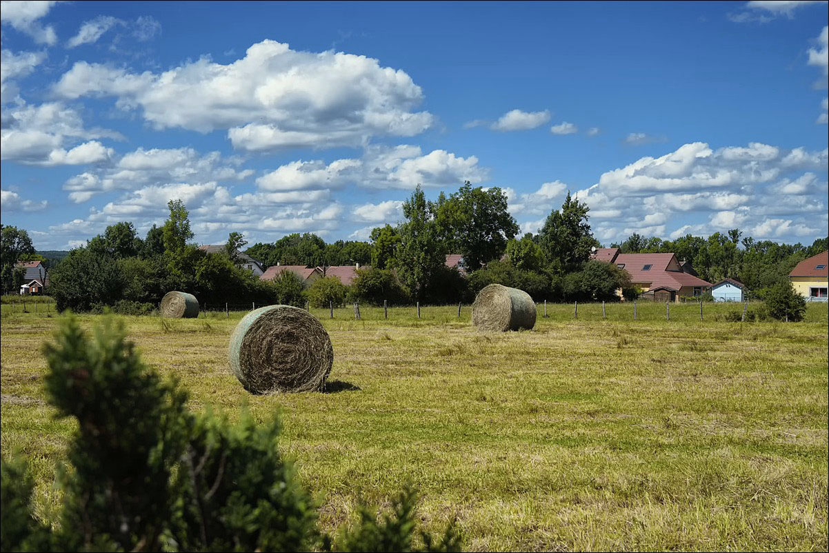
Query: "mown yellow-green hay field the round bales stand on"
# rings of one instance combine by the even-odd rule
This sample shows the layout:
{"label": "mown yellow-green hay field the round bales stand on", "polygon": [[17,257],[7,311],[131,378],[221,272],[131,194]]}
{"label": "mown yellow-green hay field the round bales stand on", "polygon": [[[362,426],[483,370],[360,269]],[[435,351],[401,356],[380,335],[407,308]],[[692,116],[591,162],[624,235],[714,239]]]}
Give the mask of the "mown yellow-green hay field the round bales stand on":
{"label": "mown yellow-green hay field the round bales stand on", "polygon": [[[230,373],[243,313],[124,321],[194,408],[279,413],[327,529],[410,481],[424,525],[457,517],[471,550],[826,551],[827,306],[788,324],[714,320],[738,305],[705,303],[703,323],[698,303],[672,303],[669,322],[664,303],[638,302],[636,322],[628,308],[608,303],[603,321],[600,303],[579,305],[574,320],[550,304],[534,330],[503,334],[475,332],[468,305],[388,321],[312,309],[334,347],[329,393],[272,396]],[[2,318],[2,453],[29,459],[40,512],[60,502],[71,430],[43,403],[55,320]]]}

